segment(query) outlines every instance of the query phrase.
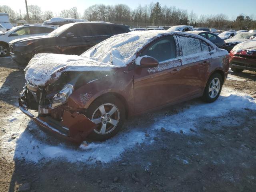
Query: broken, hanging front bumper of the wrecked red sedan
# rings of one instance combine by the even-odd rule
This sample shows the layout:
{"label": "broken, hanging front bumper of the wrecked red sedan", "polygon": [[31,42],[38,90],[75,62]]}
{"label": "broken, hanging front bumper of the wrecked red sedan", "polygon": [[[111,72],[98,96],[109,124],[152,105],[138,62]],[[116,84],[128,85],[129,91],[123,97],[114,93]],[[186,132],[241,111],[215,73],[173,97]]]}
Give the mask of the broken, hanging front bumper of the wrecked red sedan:
{"label": "broken, hanging front bumper of the wrecked red sedan", "polygon": [[34,116],[29,112],[26,106],[26,101],[22,96],[18,100],[20,110],[30,117],[40,129],[52,133],[58,138],[72,142],[74,144],[81,144],[85,138],[96,128],[96,124],[87,118],[84,114],[78,112],[64,111],[62,121],[58,122],[50,116]]}

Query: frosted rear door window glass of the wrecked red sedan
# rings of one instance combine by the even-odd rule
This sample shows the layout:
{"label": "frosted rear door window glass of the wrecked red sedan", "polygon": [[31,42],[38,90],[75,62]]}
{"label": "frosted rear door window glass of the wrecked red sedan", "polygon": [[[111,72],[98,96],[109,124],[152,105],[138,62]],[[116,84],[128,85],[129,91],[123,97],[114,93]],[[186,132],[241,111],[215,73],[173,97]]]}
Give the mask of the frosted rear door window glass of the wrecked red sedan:
{"label": "frosted rear door window glass of the wrecked red sedan", "polygon": [[202,53],[200,40],[198,38],[189,36],[178,36],[181,45],[181,52],[183,56],[194,55]]}

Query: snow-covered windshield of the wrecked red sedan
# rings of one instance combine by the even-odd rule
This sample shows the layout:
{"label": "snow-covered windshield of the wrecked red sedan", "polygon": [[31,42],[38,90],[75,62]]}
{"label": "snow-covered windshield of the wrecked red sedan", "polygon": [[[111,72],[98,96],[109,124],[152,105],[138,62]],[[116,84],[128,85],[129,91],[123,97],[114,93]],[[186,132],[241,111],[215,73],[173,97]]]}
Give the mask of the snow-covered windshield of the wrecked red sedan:
{"label": "snow-covered windshield of the wrecked red sedan", "polygon": [[119,34],[90,48],[81,56],[98,62],[111,63],[114,66],[124,66],[132,62],[136,53],[158,35],[162,36],[164,33],[152,30]]}

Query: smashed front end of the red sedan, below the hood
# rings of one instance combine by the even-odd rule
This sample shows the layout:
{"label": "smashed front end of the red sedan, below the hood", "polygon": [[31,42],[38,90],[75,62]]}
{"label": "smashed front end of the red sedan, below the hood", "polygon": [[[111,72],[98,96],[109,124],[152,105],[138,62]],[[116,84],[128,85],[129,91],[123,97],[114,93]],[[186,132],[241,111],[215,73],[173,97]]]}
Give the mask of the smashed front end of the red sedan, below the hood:
{"label": "smashed front end of the red sedan, below the hood", "polygon": [[[105,74],[101,74],[105,76]],[[20,110],[40,125],[42,130],[52,132],[68,141],[80,144],[96,128],[69,96],[90,78],[83,74],[63,74],[60,79],[46,86],[34,86],[26,82],[20,93]],[[29,110],[37,110],[34,116]]]}

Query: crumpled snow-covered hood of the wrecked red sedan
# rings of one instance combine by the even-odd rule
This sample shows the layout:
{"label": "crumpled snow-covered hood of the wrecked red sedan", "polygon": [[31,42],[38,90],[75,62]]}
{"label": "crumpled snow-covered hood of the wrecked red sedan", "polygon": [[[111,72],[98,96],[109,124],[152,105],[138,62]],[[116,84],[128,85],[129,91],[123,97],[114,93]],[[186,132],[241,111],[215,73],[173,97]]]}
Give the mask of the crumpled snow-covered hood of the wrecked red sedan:
{"label": "crumpled snow-covered hood of the wrecked red sedan", "polygon": [[27,82],[34,86],[45,86],[56,81],[62,72],[110,71],[115,67],[77,55],[36,54],[24,71]]}

